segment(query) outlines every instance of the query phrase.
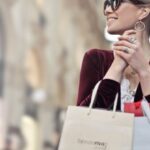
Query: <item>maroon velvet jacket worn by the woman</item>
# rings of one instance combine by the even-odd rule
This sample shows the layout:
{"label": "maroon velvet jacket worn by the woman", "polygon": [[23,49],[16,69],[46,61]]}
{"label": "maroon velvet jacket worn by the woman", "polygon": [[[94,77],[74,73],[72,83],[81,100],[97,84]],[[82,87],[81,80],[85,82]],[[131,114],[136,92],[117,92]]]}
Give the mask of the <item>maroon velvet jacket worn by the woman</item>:
{"label": "maroon velvet jacket worn by the woman", "polygon": [[[92,49],[85,53],[80,72],[78,106],[88,106],[90,104],[92,90],[95,84],[102,80],[94,107],[112,109],[116,93],[119,92],[117,109],[120,110],[120,83],[111,79],[103,80],[113,59],[112,51]],[[142,97],[139,83],[135,94],[135,102],[141,100]],[[146,96],[146,99],[150,102],[150,95]]]}

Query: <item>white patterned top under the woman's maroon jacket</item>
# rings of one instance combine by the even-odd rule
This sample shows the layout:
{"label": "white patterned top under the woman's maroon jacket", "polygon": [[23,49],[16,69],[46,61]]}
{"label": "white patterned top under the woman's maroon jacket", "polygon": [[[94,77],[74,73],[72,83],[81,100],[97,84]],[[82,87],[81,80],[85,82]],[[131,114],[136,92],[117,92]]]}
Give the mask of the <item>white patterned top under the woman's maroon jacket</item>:
{"label": "white patterned top under the woman's maroon jacket", "polygon": [[124,111],[125,102],[133,102],[136,89],[130,90],[130,82],[128,79],[123,78],[121,81],[121,111]]}

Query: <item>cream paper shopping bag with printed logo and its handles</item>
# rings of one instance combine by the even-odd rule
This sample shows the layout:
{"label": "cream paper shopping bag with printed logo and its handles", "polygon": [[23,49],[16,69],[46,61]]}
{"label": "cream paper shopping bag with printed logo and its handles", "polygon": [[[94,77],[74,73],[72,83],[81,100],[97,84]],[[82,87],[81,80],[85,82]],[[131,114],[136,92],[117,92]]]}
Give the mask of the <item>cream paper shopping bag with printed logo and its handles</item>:
{"label": "cream paper shopping bag with printed logo and its handles", "polygon": [[89,108],[69,106],[58,150],[133,150],[134,115],[92,109],[98,83]]}

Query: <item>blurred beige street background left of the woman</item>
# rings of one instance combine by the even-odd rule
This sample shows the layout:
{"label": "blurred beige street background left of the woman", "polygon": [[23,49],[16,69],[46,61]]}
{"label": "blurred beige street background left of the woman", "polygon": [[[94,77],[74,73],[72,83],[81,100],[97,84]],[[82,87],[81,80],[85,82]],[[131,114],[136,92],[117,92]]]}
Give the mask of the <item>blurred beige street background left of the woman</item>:
{"label": "blurred beige street background left of the woman", "polygon": [[57,150],[84,53],[111,46],[103,2],[0,0],[0,150]]}

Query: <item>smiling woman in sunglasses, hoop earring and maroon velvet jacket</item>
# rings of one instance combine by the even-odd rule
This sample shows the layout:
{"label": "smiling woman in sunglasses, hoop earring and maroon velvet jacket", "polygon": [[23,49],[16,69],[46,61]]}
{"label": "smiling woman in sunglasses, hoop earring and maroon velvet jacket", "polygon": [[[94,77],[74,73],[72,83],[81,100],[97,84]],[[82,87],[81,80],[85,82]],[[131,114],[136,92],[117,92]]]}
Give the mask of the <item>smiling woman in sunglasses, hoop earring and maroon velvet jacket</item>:
{"label": "smiling woman in sunglasses, hoop earring and maroon velvet jacket", "polygon": [[143,98],[150,102],[150,0],[106,0],[104,15],[110,34],[120,34],[113,51],[86,52],[80,74],[78,106],[88,106],[95,84],[101,81],[94,107],[112,109],[119,92],[124,103]]}

